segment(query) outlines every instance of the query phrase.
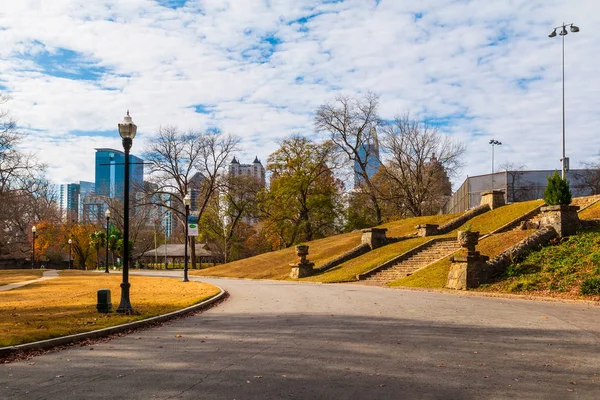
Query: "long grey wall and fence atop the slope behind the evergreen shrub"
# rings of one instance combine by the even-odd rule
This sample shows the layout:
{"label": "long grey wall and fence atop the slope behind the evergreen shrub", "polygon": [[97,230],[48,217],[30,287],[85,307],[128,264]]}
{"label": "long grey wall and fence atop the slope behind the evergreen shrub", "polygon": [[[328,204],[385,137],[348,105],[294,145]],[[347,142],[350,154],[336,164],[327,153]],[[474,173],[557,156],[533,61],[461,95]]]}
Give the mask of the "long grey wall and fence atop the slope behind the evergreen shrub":
{"label": "long grey wall and fence atop the slope behind the evergreen shrub", "polygon": [[[548,177],[554,172],[555,170],[501,171],[494,174],[470,176],[452,194],[442,208],[442,213],[453,214],[476,207],[481,202],[481,193],[488,192],[492,188],[504,192],[506,203],[541,199],[544,197],[546,186],[548,186]],[[589,171],[585,169],[567,171],[567,180],[573,197],[592,194],[583,178],[587,172]]]}

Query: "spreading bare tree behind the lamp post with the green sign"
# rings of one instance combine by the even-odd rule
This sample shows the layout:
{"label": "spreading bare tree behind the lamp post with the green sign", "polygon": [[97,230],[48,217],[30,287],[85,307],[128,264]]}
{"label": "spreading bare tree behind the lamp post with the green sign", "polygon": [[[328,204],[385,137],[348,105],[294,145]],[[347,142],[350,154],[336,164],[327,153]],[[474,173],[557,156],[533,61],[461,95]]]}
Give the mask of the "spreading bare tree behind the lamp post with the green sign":
{"label": "spreading bare tree behind the lamp post with the green sign", "polygon": [[[185,226],[183,199],[193,186],[192,211],[201,218],[219,189],[219,175],[238,143],[239,139],[229,134],[182,133],[176,127],[159,128],[144,154],[152,163],[150,172],[154,184],[148,201],[170,210]],[[193,237],[190,242],[192,268],[195,268]]]}

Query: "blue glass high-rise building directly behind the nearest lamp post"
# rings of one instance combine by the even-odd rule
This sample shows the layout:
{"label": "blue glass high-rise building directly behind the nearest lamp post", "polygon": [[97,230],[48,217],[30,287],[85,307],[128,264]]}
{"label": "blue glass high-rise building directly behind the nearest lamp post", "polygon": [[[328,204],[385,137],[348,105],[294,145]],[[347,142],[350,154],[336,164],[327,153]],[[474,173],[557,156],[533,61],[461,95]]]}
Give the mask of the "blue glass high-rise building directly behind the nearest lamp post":
{"label": "blue glass high-rise building directly behind the nearest lamp post", "polygon": [[[144,185],[143,160],[129,155],[131,192],[140,191]],[[115,149],[96,149],[96,195],[123,201],[125,180],[125,153]]]}

